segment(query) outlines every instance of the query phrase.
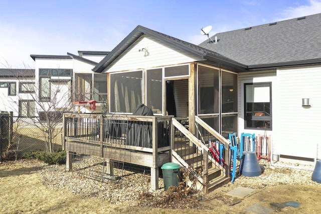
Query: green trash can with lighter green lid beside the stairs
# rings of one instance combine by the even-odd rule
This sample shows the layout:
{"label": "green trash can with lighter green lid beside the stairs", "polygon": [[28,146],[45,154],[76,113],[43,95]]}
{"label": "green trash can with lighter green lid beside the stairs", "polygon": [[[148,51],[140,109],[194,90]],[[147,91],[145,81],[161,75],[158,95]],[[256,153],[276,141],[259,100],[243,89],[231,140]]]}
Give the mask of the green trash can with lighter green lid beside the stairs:
{"label": "green trash can with lighter green lid beside the stairs", "polygon": [[164,188],[169,189],[169,186],[179,185],[179,171],[181,165],[178,163],[165,163],[161,167],[164,178]]}

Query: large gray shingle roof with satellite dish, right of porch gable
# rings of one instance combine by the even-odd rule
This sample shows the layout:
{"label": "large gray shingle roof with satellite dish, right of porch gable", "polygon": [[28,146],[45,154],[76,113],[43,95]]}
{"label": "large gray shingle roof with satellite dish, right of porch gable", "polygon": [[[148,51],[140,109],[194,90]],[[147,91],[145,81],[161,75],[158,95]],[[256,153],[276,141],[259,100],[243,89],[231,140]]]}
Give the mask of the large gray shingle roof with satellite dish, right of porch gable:
{"label": "large gray shingle roof with satellite dish, right of porch gable", "polygon": [[249,68],[321,59],[321,14],[218,33],[212,40],[215,36],[216,44],[207,44],[206,40],[199,46]]}

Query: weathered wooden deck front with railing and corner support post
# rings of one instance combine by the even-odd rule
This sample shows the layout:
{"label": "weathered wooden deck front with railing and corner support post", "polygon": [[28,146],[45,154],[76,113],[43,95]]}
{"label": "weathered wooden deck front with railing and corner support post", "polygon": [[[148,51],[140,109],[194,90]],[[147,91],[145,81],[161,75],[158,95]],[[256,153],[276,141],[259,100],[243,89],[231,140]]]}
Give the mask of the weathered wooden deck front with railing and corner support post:
{"label": "weathered wooden deck front with railing and corner support post", "polygon": [[158,167],[171,161],[172,116],[64,114],[63,122],[64,149],[86,154],[87,146],[90,155],[150,167],[158,188]]}

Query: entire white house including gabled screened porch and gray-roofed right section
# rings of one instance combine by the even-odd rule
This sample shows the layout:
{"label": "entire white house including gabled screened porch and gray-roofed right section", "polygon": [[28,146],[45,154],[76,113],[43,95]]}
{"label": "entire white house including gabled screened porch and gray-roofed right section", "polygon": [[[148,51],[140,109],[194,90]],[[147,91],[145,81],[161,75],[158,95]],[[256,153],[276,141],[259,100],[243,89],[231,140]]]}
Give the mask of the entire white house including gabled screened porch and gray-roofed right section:
{"label": "entire white house including gabled screened porch and gray-roofed right section", "polygon": [[[313,161],[321,111],[321,14],[219,33],[200,45],[137,26],[94,68],[110,113],[204,118],[221,135],[271,136],[273,158]],[[216,39],[215,39],[216,38]]]}

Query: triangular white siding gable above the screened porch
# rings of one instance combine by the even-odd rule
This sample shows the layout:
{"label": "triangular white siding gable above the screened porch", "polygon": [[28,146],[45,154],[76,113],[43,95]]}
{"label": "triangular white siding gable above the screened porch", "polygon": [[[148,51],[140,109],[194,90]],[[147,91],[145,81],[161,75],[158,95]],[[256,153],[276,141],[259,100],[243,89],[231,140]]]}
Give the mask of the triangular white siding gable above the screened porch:
{"label": "triangular white siding gable above the screened porch", "polygon": [[[142,48],[148,50],[144,56],[144,52],[139,52]],[[183,52],[179,49],[173,49],[169,45],[158,41],[154,38],[145,36],[136,41],[122,57],[110,67],[107,72],[138,70],[143,68],[153,68],[167,65],[177,65],[182,63],[190,63],[199,58],[193,57],[191,54]],[[105,71],[106,72],[106,71]]]}

